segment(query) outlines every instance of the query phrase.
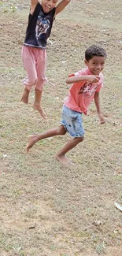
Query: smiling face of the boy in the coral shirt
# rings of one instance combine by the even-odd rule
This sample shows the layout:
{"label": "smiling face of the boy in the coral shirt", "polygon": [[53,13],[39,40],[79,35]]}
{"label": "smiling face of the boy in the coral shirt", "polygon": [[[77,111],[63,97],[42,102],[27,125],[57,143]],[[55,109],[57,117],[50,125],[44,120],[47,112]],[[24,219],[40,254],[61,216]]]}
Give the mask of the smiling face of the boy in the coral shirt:
{"label": "smiling face of the boy in the coral shirt", "polygon": [[102,69],[104,69],[105,65],[105,57],[102,56],[94,56],[91,60],[86,61],[85,64],[87,65],[88,69],[95,75],[98,76]]}

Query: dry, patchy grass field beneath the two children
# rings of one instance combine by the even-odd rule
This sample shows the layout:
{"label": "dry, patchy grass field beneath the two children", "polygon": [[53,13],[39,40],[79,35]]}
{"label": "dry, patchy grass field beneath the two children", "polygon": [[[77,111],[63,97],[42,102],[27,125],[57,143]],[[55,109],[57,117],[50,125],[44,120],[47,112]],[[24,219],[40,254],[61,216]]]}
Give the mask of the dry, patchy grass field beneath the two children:
{"label": "dry, patchy grass field beneath the two children", "polygon": [[[28,106],[20,102],[29,2],[3,1],[0,10],[0,255],[122,256],[122,213],[114,206],[122,205],[120,0],[72,0],[54,21],[43,91],[46,121],[31,108],[34,91]],[[68,154],[72,167],[54,159],[68,135],[45,139],[26,155],[29,134],[60,124],[65,79],[84,67],[84,51],[93,43],[108,54],[101,93],[106,123],[99,124],[93,102],[83,116],[85,140]]]}

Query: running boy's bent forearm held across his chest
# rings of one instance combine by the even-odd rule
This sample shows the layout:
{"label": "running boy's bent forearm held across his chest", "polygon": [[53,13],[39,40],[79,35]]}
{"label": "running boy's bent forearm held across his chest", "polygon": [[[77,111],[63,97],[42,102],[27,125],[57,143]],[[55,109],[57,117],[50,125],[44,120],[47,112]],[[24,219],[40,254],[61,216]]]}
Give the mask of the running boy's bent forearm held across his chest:
{"label": "running boy's bent forearm held across his chest", "polygon": [[87,76],[70,76],[67,78],[66,83],[76,83],[80,81],[89,81],[91,83],[97,83],[100,79],[99,76],[87,75]]}

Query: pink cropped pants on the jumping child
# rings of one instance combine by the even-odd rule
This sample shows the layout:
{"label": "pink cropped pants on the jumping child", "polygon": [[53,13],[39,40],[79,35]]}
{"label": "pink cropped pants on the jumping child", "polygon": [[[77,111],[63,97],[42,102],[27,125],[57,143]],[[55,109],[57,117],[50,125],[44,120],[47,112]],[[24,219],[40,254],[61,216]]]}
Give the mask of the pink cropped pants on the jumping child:
{"label": "pink cropped pants on the jumping child", "polygon": [[46,83],[46,50],[31,46],[22,47],[22,60],[27,77],[24,86],[30,91],[31,87],[42,91]]}

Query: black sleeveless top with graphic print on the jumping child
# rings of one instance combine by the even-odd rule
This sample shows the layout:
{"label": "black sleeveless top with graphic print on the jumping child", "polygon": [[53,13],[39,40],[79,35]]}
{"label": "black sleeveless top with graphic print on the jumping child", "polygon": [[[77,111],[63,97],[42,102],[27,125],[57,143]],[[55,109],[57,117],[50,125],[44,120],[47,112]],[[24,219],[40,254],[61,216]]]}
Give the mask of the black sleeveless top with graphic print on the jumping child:
{"label": "black sleeveless top with graphic print on the jumping child", "polygon": [[38,48],[46,48],[47,39],[50,36],[54,21],[55,8],[49,13],[44,13],[40,3],[35,7],[34,13],[29,14],[28,27],[24,39],[24,45]]}

